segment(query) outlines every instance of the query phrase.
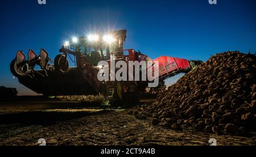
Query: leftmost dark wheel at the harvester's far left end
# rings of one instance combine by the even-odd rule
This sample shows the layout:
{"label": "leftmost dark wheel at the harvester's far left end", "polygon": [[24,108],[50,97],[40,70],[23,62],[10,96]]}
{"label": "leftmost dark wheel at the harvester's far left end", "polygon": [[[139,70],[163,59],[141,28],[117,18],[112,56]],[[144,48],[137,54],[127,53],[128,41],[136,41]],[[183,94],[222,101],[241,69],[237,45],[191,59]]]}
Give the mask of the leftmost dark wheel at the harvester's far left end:
{"label": "leftmost dark wheel at the harvester's far left end", "polygon": [[17,60],[14,59],[13,61],[11,61],[10,69],[11,73],[13,73],[15,77],[25,77],[28,71],[28,64],[24,64],[23,67],[18,68]]}

